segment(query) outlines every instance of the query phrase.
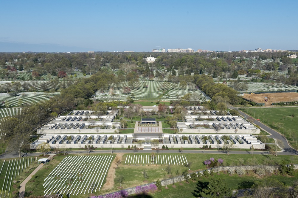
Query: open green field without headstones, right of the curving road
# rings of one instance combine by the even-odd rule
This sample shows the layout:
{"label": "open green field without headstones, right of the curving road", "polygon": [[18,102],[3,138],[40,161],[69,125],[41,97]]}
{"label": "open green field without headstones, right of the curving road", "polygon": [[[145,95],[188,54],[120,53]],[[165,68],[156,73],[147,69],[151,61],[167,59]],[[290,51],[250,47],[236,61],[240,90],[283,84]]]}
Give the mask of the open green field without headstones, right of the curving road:
{"label": "open green field without headstones, right of the curving road", "polygon": [[[254,118],[285,135],[294,148],[298,148],[298,107],[274,107],[274,108],[242,108]],[[294,117],[292,115],[294,114]]]}

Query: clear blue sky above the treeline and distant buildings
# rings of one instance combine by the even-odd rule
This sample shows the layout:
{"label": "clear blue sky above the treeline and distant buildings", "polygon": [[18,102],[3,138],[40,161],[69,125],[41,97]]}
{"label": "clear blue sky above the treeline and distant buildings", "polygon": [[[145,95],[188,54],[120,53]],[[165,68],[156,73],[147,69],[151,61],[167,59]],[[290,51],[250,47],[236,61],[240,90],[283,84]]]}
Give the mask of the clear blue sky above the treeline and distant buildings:
{"label": "clear blue sky above the treeline and distant buildings", "polygon": [[297,49],[297,6],[274,0],[3,0],[0,52]]}

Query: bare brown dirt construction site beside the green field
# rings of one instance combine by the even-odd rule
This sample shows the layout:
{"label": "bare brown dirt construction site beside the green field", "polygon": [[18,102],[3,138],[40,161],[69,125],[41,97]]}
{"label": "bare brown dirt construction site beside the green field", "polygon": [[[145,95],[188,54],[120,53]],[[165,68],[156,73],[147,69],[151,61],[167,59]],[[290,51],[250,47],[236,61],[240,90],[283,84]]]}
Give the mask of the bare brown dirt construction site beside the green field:
{"label": "bare brown dirt construction site beside the green field", "polygon": [[[297,92],[287,92],[287,93],[270,93],[270,94],[244,94],[241,96],[256,103],[265,103],[265,106],[271,106],[271,103],[275,102],[294,102],[298,101]],[[265,99],[268,99],[266,102]]]}

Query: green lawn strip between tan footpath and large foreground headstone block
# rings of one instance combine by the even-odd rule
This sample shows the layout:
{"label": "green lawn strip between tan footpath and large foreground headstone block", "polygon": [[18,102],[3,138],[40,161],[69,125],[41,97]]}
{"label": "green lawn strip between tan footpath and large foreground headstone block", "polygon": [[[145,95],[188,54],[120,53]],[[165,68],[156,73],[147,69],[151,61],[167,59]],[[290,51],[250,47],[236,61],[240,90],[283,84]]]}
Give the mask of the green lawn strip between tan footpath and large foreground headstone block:
{"label": "green lawn strip between tan footpath and large foreground headstone block", "polygon": [[[93,154],[89,154],[89,155],[93,155]],[[94,154],[94,155],[99,155],[99,154]],[[104,155],[110,155],[110,154],[100,154],[100,156],[104,156]],[[73,156],[71,154],[66,155],[66,156]],[[49,163],[47,163],[47,168],[44,165],[36,174],[35,174],[35,182],[28,182],[26,184],[26,197],[29,197],[31,194],[32,195],[43,195],[44,194],[44,186],[42,185],[44,183],[44,179],[52,172],[52,170],[54,170],[54,168],[56,166],[58,166],[58,164],[66,157],[66,156],[54,156],[52,158],[51,161],[49,161]],[[76,155],[77,156],[77,155]],[[113,159],[115,158],[115,155],[113,157]],[[112,163],[112,162],[111,162]],[[110,164],[111,165],[111,164]],[[106,180],[103,181],[103,185],[105,183]],[[32,189],[32,192],[30,193]],[[55,192],[56,193],[56,192]],[[100,191],[97,191],[96,193],[100,193]],[[54,193],[52,193],[54,194]],[[77,198],[83,198],[83,197],[87,197],[88,194],[78,194],[77,196],[73,196],[72,197],[77,197]]]}

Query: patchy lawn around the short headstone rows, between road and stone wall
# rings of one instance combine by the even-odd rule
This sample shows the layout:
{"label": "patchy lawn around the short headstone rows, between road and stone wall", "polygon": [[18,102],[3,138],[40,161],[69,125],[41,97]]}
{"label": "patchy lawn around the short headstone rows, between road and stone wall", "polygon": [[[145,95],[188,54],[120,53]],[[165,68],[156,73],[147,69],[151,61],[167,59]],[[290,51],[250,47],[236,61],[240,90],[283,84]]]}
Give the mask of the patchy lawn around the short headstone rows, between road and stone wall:
{"label": "patchy lawn around the short headstone rows, between road and stone wall", "polygon": [[[178,154],[178,151],[177,151]],[[171,155],[177,155],[177,154],[171,154]],[[125,182],[122,184],[124,188],[129,188],[133,186],[142,185],[145,183],[154,182],[157,179],[162,179],[164,175],[167,175],[167,172],[165,170],[162,170],[166,168],[166,165],[125,165],[125,159],[126,156],[131,154],[124,154],[122,157],[122,163],[119,165],[119,168],[116,169],[116,176],[123,175],[125,177]],[[136,156],[142,155],[141,153],[136,153]],[[167,156],[169,154],[160,153],[159,155]],[[192,171],[198,171],[198,170],[205,170],[206,165],[203,164],[204,160],[210,159],[211,157],[218,159],[224,159],[227,164],[229,165],[239,165],[239,164],[245,164],[245,163],[256,163],[256,164],[270,164],[273,161],[281,162],[283,159],[286,160],[287,164],[298,163],[298,156],[273,156],[273,161],[271,161],[271,156],[266,155],[241,155],[241,154],[188,154],[183,153],[183,156],[186,156],[187,161],[191,161],[193,165],[191,166]],[[177,170],[187,170],[186,167],[181,165],[170,165],[172,169],[173,175],[176,174]],[[148,181],[143,182],[145,178],[143,177],[142,172],[143,171],[148,172]],[[115,184],[117,184],[117,181],[115,180]],[[236,186],[237,187],[237,186]],[[235,187],[235,188],[236,188]]]}

